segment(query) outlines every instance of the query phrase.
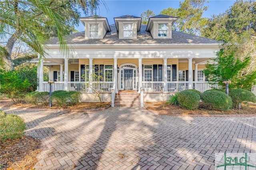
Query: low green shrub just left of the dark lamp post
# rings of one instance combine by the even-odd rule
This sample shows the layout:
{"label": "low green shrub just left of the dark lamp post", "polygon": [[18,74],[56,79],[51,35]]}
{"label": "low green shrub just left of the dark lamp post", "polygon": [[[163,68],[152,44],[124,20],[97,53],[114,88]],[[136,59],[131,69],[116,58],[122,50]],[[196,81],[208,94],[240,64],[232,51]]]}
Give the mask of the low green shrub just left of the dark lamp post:
{"label": "low green shrub just left of the dark lamp post", "polygon": [[42,105],[46,106],[49,103],[49,92],[38,92],[34,91],[32,93],[28,93],[26,95],[26,99],[28,103],[31,103],[33,105],[38,105],[38,103],[42,103]]}

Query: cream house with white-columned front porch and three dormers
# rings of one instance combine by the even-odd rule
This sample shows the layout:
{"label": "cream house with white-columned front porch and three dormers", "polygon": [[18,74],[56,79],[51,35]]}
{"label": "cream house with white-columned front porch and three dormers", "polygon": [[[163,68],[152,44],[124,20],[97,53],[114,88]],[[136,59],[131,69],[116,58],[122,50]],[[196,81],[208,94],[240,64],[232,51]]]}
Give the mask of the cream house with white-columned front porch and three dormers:
{"label": "cream house with white-columned front porch and three dormers", "polygon": [[172,30],[176,20],[158,15],[145,25],[140,17],[126,15],[109,25],[101,16],[80,18],[85,31],[72,34],[69,42],[74,58],[61,55],[58,38],[48,43],[49,56],[38,69],[38,90],[49,90],[43,66],[50,69],[53,90],[80,91],[82,101],[92,102],[97,89],[112,106],[120,91],[143,94],[143,106],[143,101],[161,101],[162,93],[210,89],[202,70],[216,57],[219,42]]}

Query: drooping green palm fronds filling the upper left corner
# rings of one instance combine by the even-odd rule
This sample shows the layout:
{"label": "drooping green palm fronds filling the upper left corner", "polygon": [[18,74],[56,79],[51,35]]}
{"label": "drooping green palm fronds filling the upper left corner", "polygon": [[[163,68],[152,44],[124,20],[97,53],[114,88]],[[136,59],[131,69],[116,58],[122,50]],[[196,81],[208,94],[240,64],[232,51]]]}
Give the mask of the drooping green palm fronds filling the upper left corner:
{"label": "drooping green palm fronds filling the upper left corner", "polygon": [[[44,45],[50,37],[58,37],[60,52],[70,57],[68,40],[74,30],[72,24],[78,23],[76,6],[84,10],[94,9],[100,0],[2,0],[0,1],[0,61],[5,67],[13,69],[11,58],[16,40],[21,40],[34,49],[40,57],[45,57]],[[70,18],[75,18],[74,20]]]}

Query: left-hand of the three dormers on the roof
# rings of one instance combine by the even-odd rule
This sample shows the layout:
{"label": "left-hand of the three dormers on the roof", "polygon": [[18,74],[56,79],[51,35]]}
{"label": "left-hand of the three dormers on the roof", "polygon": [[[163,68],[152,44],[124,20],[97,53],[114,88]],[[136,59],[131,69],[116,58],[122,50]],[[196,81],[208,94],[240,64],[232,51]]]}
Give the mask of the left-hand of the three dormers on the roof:
{"label": "left-hand of the three dormers on the roof", "polygon": [[82,17],[80,21],[84,24],[85,39],[102,39],[111,31],[107,18],[102,16]]}

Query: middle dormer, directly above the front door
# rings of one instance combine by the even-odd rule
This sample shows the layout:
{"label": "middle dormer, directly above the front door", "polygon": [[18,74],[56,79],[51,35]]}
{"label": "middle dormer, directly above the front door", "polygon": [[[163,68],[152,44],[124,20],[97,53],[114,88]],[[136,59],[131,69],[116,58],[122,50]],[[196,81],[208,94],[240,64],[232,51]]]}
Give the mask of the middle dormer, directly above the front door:
{"label": "middle dormer, directly above the front door", "polygon": [[137,39],[141,17],[125,15],[114,18],[119,39]]}

